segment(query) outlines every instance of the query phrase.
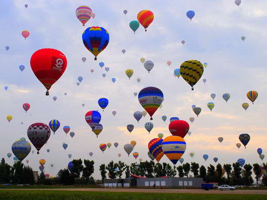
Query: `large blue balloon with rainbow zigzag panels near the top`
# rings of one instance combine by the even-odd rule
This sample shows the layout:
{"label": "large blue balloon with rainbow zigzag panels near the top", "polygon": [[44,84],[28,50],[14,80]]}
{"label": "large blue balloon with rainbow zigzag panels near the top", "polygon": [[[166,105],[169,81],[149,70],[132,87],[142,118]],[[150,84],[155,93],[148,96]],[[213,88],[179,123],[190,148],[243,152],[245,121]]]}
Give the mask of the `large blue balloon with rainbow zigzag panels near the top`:
{"label": "large blue balloon with rainbow zigzag panels near the top", "polygon": [[108,45],[109,33],[103,27],[89,27],[83,32],[83,43],[86,49],[88,49],[97,60],[97,56]]}

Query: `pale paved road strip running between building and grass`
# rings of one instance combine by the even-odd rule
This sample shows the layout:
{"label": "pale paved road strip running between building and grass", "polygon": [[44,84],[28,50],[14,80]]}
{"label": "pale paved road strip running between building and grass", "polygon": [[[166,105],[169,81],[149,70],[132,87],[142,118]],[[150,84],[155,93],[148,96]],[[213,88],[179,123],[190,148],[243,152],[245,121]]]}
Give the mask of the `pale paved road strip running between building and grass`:
{"label": "pale paved road strip running between building and grass", "polygon": [[[1,189],[1,190],[63,190],[85,192],[147,192],[147,193],[193,193],[193,194],[267,194],[267,190],[200,190],[200,189],[115,189],[115,188],[58,188],[58,189]],[[0,190],[0,191],[1,191]]]}

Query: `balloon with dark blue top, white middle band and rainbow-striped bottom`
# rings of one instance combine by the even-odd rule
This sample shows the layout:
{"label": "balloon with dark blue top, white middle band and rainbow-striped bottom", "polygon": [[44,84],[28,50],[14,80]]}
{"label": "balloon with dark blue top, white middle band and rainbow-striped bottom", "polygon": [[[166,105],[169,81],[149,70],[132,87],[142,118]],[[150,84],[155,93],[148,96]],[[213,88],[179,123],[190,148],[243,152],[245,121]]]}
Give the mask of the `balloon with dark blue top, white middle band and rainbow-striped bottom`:
{"label": "balloon with dark blue top, white middle band and rainbow-striped bottom", "polygon": [[139,92],[139,103],[150,115],[150,120],[152,120],[152,115],[160,107],[163,97],[162,91],[155,87],[147,87]]}

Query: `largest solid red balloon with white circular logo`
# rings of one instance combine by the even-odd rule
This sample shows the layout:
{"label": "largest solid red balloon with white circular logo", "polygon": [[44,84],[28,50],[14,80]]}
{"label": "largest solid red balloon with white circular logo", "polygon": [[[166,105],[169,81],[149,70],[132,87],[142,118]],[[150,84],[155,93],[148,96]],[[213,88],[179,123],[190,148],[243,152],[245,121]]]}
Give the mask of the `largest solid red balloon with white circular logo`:
{"label": "largest solid red balloon with white circular logo", "polygon": [[31,69],[39,81],[48,90],[58,81],[67,67],[67,58],[56,49],[40,49],[31,56]]}

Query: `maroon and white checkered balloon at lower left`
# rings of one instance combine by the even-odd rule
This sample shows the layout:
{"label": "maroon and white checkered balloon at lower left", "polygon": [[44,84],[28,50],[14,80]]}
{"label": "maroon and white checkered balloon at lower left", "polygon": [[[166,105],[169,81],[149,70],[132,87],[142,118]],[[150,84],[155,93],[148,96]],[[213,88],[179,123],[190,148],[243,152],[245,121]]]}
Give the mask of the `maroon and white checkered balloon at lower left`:
{"label": "maroon and white checkered balloon at lower left", "polygon": [[40,149],[50,137],[50,128],[43,123],[34,123],[29,126],[27,134],[31,143],[37,149],[37,154],[39,154]]}

